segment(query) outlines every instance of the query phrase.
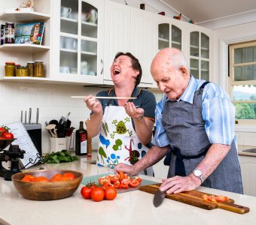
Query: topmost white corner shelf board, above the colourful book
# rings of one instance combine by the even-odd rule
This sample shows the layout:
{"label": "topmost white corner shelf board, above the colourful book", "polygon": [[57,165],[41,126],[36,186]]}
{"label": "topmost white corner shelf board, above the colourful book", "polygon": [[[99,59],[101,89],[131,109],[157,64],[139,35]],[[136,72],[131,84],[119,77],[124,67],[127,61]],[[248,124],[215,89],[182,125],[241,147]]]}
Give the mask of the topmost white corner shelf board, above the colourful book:
{"label": "topmost white corner shelf board, above the colourful book", "polygon": [[10,21],[35,21],[35,20],[47,20],[50,15],[38,12],[25,12],[25,11],[4,11],[0,13],[0,20],[10,20]]}

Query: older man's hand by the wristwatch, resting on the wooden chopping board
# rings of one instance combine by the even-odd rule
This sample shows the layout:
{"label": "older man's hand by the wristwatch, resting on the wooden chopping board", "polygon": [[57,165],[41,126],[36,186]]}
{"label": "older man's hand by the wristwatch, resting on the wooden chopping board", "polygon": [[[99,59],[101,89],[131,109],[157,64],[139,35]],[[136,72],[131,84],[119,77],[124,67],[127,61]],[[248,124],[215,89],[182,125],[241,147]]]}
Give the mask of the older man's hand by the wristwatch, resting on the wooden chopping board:
{"label": "older man's hand by the wristwatch, resting on the wooden chopping board", "polygon": [[200,184],[200,178],[194,178],[193,175],[185,177],[175,175],[175,177],[164,179],[160,190],[166,191],[166,193],[180,193],[182,191],[195,190],[200,187]]}

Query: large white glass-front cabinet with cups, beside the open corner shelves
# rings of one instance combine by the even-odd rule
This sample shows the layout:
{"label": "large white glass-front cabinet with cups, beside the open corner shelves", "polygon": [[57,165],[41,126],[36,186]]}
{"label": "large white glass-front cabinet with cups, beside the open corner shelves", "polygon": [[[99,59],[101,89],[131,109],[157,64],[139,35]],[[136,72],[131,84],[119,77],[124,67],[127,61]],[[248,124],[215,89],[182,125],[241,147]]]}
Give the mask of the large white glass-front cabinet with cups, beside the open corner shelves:
{"label": "large white glass-front cabinet with cups, beside the open corner shelves", "polygon": [[56,0],[54,4],[53,10],[58,12],[53,13],[53,77],[74,83],[102,83],[104,1]]}

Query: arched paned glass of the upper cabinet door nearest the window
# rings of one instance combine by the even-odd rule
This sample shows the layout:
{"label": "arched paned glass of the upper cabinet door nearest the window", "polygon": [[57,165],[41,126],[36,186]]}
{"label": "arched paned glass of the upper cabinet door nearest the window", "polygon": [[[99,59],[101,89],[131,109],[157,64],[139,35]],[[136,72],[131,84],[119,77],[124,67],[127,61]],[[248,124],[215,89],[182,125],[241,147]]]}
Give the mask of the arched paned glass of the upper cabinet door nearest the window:
{"label": "arched paned glass of the upper cabinet door nearest the window", "polygon": [[209,80],[209,36],[200,31],[190,32],[190,73],[197,79]]}

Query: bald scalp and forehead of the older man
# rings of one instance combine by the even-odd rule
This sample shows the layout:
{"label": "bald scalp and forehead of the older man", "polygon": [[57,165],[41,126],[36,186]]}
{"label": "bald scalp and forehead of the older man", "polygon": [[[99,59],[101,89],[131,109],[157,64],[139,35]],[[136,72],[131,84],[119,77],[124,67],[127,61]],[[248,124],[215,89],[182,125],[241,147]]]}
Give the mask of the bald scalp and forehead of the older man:
{"label": "bald scalp and forehead of the older man", "polygon": [[151,74],[156,72],[164,73],[171,68],[178,70],[180,67],[187,67],[186,58],[183,52],[175,48],[166,48],[160,50],[151,63]]}

